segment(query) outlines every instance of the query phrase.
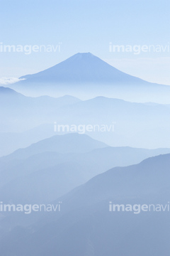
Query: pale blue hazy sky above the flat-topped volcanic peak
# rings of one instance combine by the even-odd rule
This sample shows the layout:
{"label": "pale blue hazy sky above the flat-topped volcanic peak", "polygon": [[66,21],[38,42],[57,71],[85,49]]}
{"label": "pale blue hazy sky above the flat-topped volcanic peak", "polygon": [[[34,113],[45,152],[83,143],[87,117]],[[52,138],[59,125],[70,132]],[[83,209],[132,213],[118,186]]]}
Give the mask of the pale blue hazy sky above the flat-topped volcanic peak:
{"label": "pale blue hazy sky above the flat-topped volcanic peak", "polygon": [[[62,43],[60,52],[0,52],[0,78],[36,73],[91,52],[126,73],[170,85],[169,9],[169,0],[0,0],[1,46]],[[163,50],[114,53],[109,43]]]}

